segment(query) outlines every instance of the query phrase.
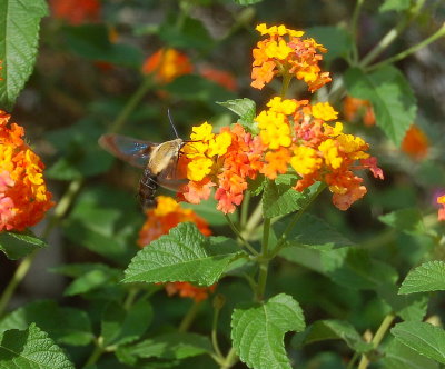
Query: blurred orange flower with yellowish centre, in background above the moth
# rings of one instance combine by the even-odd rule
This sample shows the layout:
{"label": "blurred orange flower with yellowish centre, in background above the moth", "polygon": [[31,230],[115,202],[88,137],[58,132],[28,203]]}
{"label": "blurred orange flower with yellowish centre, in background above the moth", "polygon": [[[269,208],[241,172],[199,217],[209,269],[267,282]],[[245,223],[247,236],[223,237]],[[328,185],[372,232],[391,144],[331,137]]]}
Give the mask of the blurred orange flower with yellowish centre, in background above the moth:
{"label": "blurred orange flower with yellowish centre, in background above the moth", "polygon": [[190,60],[185,53],[175,49],[160,49],[147,58],[142,66],[142,73],[154,74],[157,83],[169,83],[179,76],[188,74],[192,70]]}

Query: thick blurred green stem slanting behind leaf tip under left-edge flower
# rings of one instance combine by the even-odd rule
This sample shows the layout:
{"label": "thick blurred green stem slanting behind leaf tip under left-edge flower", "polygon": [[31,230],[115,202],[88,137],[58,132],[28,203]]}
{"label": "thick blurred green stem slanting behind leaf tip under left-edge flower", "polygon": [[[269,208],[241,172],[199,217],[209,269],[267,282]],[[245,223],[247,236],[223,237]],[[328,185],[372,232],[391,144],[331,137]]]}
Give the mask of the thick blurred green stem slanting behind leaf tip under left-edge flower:
{"label": "thick blurred green stem slanting behind leaf tip under left-edge flower", "polygon": [[[70,207],[73,198],[76,197],[77,192],[79,191],[81,183],[82,183],[82,180],[79,179],[79,180],[72,181],[69,184],[67,192],[59,200],[51,218],[48,220],[47,226],[44,227],[44,229],[42,231],[41,237],[43,239],[48,238],[51,230],[57,226],[57,223],[60,221],[60,219],[63,218],[63,216],[68,211],[68,208]],[[6,287],[3,293],[1,295],[0,317],[3,315],[4,309],[8,307],[8,303],[10,301],[11,297],[13,296],[17,287],[20,285],[20,282],[23,280],[24,276],[28,273],[29,268],[31,268],[32,261],[34,260],[34,258],[37,256],[37,251],[38,250],[31,252],[20,262],[19,267],[16,269],[14,275],[12,276],[12,279]]]}

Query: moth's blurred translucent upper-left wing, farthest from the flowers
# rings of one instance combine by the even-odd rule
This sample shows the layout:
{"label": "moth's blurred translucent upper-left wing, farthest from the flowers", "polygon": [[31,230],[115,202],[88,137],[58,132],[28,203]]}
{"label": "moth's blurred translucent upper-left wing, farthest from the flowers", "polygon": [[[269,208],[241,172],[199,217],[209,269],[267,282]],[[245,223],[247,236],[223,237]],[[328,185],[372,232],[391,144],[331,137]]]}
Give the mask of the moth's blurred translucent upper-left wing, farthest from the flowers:
{"label": "moth's blurred translucent upper-left wing, farthest from the flowers", "polygon": [[121,134],[107,133],[99,138],[102,149],[134,167],[144,168],[158,143],[137,140]]}

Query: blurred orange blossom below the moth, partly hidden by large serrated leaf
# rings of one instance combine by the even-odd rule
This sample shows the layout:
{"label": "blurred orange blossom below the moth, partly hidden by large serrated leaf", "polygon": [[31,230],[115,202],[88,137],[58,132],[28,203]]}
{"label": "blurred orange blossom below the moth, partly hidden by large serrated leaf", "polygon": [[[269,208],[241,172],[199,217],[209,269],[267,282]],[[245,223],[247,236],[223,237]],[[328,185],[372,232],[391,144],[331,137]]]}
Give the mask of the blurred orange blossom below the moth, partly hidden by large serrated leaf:
{"label": "blurred orange blossom below the moth, partly hidden by large serrated leaf", "polygon": [[[1,182],[0,182],[1,183]],[[184,221],[194,222],[205,236],[211,235],[206,220],[199,217],[194,210],[182,208],[175,199],[166,196],[156,198],[157,206],[147,211],[147,219],[139,231],[138,245],[148,246],[162,235]],[[205,300],[209,292],[215,290],[215,285],[210,287],[197,287],[189,282],[177,281],[165,283],[169,296],[178,293],[180,297],[189,297],[195,301]]]}

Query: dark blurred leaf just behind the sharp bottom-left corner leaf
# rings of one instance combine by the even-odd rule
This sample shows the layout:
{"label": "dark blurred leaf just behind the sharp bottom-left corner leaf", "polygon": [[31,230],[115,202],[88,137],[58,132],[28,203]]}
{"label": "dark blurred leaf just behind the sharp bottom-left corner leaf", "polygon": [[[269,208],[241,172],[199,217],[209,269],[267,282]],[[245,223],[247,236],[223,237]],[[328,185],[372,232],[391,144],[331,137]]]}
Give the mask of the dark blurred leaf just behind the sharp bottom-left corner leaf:
{"label": "dark blurred leaf just behind the sharp bottom-left corner leaf", "polygon": [[23,330],[32,322],[58,343],[86,346],[93,338],[90,320],[85,311],[59,307],[56,301],[50,300],[34,301],[14,310],[0,321],[0,332]]}

